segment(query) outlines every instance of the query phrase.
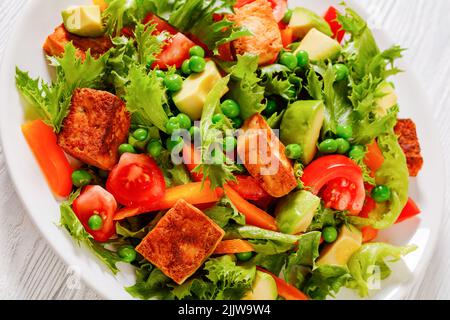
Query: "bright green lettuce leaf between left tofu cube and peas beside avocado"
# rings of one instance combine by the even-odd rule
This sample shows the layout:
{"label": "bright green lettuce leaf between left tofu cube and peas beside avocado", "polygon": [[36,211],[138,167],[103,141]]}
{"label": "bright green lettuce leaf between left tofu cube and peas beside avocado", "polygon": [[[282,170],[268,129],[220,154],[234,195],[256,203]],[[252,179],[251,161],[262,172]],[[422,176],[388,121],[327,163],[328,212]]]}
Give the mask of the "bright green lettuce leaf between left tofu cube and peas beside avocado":
{"label": "bright green lettuce leaf between left tofu cube and peas beside avocado", "polygon": [[163,104],[166,103],[167,98],[155,71],[147,73],[144,67],[132,65],[125,92],[127,109],[132,114],[134,124],[145,127],[155,126],[166,132],[169,117]]}

